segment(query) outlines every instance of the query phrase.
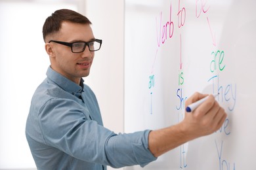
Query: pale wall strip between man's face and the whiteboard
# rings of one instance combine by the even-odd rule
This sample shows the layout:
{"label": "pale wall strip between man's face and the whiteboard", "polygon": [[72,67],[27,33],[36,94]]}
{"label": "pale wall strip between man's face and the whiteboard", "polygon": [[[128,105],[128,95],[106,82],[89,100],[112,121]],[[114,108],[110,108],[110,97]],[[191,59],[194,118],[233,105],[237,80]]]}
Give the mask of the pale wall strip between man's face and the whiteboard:
{"label": "pale wall strip between man's face and the whiteboard", "polygon": [[85,83],[96,93],[104,126],[123,132],[124,0],[87,0],[85,16],[95,37],[103,40]]}

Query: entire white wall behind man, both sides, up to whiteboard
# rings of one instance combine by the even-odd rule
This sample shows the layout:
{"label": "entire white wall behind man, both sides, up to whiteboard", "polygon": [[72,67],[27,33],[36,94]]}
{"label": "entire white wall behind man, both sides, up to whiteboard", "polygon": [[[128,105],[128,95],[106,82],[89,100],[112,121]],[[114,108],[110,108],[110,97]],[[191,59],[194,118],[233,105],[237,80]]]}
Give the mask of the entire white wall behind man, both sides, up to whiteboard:
{"label": "entire white wall behind man, both sides, up to whiteboard", "polygon": [[123,132],[123,6],[124,0],[0,0],[0,169],[35,168],[24,131],[31,97],[49,65],[42,25],[56,9],[86,12],[103,40],[85,83],[96,93],[104,126]]}

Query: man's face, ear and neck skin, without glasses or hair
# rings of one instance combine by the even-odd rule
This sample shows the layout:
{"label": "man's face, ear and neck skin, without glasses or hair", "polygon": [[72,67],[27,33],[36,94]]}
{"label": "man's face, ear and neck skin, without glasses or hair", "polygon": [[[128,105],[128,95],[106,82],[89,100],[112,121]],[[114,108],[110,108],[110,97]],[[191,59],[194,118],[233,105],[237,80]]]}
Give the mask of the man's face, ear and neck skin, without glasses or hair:
{"label": "man's face, ear and neck skin, without glasses or hair", "polygon": [[[89,24],[62,22],[58,33],[49,36],[49,39],[64,42],[89,42],[95,37]],[[81,77],[89,75],[95,52],[90,52],[88,46],[81,53],[73,53],[70,46],[53,42],[46,43],[45,48],[50,56],[51,67],[54,71],[77,84],[79,84]]]}

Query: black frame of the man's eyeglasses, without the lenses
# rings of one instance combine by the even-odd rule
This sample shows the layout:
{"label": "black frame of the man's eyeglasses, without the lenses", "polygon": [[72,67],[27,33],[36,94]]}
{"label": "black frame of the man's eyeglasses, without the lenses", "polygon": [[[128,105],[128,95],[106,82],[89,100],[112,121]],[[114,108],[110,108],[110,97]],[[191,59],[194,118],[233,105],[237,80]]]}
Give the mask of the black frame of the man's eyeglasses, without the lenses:
{"label": "black frame of the man's eyeglasses, without the lenses", "polygon": [[[95,42],[95,41],[100,43],[100,46],[99,46],[99,48],[97,50],[91,50],[89,44],[91,42]],[[81,42],[85,43],[84,46],[83,46],[83,50],[81,52],[85,51],[86,46],[88,46],[90,52],[96,52],[96,51],[100,50],[100,47],[101,47],[101,44],[102,44],[102,40],[101,39],[93,39],[92,41],[88,41],[88,42],[84,42],[84,41],[79,41],[79,42],[63,42],[63,41],[55,41],[55,40],[51,40],[51,41],[49,41],[49,43],[50,42],[56,42],[58,44],[62,44],[62,45],[65,45],[65,46],[70,46],[71,51],[73,53],[80,53],[80,52],[74,52],[73,51],[73,44],[75,44],[75,43],[81,43]]]}

